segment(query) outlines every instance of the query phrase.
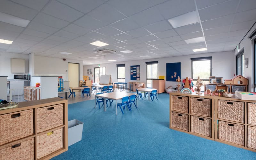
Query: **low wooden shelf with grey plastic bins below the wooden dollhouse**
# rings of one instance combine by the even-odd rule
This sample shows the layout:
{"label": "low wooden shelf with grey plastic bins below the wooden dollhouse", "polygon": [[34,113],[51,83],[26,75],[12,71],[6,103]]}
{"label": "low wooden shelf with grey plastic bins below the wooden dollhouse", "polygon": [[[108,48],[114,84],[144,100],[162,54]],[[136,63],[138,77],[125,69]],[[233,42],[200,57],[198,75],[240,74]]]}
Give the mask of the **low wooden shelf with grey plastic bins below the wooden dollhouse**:
{"label": "low wooden shelf with grey plastic bins below the wooden dollhouse", "polygon": [[[216,86],[228,86],[227,92],[235,94],[235,91],[244,91],[247,92],[247,85],[244,84],[218,84],[218,83],[209,83],[209,84],[204,84],[205,91],[209,88],[211,91],[213,88],[216,89]],[[215,90],[214,89],[214,90]],[[214,91],[213,90],[213,91]]]}

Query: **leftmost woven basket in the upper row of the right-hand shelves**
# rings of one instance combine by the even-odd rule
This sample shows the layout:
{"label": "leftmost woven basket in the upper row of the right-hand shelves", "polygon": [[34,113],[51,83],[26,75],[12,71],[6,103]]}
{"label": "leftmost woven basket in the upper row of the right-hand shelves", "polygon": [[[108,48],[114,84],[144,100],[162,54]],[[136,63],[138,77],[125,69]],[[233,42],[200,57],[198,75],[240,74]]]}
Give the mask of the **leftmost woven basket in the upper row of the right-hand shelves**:
{"label": "leftmost woven basket in the upper row of the right-hand shelves", "polygon": [[188,113],[188,97],[172,95],[172,110]]}

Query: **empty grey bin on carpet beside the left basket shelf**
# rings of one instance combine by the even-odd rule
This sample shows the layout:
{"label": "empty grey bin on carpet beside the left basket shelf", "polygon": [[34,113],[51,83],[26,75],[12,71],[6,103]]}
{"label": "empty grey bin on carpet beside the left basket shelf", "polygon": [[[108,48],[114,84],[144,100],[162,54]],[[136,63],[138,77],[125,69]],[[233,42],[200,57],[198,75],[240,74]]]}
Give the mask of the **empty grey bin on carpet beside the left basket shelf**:
{"label": "empty grey bin on carpet beside the left basket shelf", "polygon": [[73,119],[68,121],[68,146],[82,140],[83,122]]}

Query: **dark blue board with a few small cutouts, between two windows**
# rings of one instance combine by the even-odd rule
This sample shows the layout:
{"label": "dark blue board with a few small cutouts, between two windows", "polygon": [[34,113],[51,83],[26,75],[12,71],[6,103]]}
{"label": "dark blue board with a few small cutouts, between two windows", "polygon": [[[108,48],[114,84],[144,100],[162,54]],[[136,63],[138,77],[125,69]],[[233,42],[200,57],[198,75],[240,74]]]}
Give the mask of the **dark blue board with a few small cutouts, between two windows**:
{"label": "dark blue board with a few small cutouts, between two windows", "polygon": [[175,81],[181,79],[181,63],[166,63],[166,81]]}

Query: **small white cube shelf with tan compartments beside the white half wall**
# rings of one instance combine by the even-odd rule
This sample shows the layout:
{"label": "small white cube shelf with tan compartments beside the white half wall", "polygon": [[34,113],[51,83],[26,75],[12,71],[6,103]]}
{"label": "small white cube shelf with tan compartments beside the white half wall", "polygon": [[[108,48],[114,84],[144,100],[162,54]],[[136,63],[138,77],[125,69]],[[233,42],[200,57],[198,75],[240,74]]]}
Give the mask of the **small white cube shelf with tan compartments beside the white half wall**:
{"label": "small white cube shelf with tan compartments beside the white half wall", "polygon": [[41,88],[27,86],[24,87],[24,100],[40,100],[41,99]]}

